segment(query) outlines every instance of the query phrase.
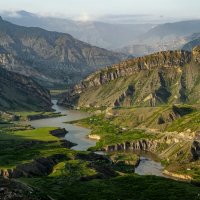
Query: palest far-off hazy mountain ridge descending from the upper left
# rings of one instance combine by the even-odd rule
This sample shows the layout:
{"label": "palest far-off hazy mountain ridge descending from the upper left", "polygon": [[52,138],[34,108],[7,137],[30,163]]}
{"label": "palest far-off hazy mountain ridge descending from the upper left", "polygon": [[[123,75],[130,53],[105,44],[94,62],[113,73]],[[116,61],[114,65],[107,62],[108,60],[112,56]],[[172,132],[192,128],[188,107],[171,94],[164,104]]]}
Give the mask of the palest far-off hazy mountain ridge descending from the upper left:
{"label": "palest far-off hazy mountain ridge descending from the upper left", "polygon": [[129,45],[135,38],[146,33],[152,24],[111,24],[98,21],[74,21],[54,17],[42,17],[26,11],[15,16],[2,13],[7,21],[27,27],[40,27],[49,31],[69,33],[91,45],[106,49],[117,49]]}

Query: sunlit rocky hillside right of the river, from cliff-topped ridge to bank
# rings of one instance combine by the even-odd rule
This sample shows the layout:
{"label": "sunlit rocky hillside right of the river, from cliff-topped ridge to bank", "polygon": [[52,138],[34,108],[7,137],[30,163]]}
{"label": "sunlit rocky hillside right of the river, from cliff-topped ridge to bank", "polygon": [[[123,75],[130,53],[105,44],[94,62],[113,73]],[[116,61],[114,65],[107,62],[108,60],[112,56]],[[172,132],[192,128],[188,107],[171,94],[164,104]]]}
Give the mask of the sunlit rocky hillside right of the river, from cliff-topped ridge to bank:
{"label": "sunlit rocky hillside right of the river, from cliff-topped ridge to bank", "polygon": [[60,103],[95,111],[78,123],[98,139],[92,150],[151,152],[168,176],[198,179],[199,61],[199,46],[130,59],[88,76]]}

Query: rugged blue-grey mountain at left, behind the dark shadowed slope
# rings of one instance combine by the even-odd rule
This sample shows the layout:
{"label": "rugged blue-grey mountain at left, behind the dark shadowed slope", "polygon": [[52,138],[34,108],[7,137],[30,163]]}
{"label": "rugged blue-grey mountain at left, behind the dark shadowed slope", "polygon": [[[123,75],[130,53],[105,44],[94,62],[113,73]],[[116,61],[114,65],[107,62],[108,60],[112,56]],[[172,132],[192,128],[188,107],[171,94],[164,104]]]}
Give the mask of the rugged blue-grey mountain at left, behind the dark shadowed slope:
{"label": "rugged blue-grey mountain at left, behind the dark shadowed slope", "polygon": [[70,85],[126,55],[91,46],[69,34],[27,28],[0,19],[0,58],[5,68],[42,85]]}

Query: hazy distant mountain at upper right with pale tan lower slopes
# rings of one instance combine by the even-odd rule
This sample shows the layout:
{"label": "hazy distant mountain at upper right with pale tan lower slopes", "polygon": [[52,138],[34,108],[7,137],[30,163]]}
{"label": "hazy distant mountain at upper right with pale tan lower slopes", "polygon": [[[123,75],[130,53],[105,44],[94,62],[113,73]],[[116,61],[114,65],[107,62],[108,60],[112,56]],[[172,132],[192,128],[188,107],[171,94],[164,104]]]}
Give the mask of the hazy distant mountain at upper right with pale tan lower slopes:
{"label": "hazy distant mountain at upper right with pale tan lower slopes", "polygon": [[[134,43],[117,49],[117,51],[134,56],[144,56],[158,51],[177,50],[191,41],[196,32],[200,32],[200,20],[159,24],[138,37]],[[192,34],[194,35],[191,36]],[[192,48],[196,45],[192,45]],[[186,50],[189,49],[186,48]]]}

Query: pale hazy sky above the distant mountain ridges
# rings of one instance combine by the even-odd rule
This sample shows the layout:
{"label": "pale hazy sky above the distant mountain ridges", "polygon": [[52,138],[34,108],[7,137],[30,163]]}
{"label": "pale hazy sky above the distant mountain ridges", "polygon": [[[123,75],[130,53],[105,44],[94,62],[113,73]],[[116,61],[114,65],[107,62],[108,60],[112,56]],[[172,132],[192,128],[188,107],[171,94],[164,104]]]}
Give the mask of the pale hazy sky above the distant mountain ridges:
{"label": "pale hazy sky above the distant mountain ridges", "polygon": [[0,0],[0,9],[26,10],[78,20],[97,18],[200,18],[200,0]]}

